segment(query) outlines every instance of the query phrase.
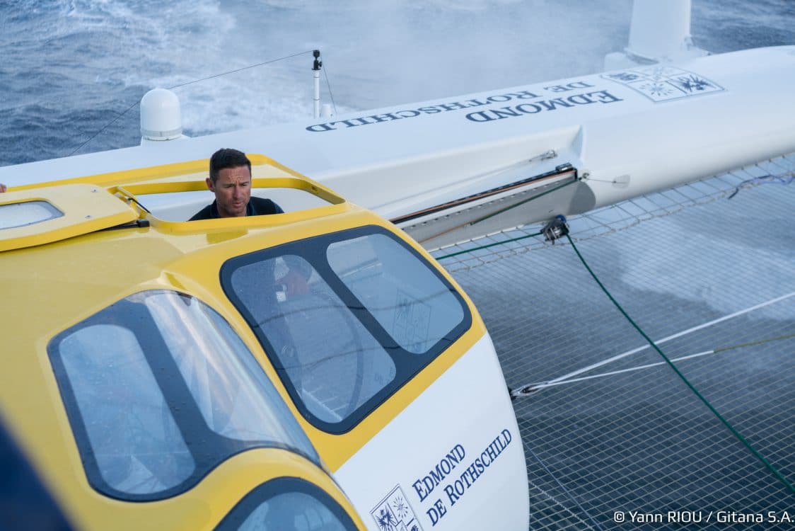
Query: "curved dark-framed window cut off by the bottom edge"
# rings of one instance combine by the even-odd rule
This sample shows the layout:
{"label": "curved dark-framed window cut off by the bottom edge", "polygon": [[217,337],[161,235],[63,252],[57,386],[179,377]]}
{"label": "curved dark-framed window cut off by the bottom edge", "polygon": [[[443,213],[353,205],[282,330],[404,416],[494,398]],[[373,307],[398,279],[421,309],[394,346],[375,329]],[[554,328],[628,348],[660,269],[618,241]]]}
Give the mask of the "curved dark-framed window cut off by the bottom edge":
{"label": "curved dark-framed window cut off by the bottom edge", "polygon": [[342,506],[299,478],[276,478],[252,490],[216,531],[355,531]]}

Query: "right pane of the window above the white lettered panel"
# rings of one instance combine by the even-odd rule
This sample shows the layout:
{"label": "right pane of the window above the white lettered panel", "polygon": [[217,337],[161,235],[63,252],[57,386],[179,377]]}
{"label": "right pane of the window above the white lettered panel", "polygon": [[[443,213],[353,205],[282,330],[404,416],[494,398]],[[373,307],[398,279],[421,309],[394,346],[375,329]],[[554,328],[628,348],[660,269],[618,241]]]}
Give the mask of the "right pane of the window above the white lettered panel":
{"label": "right pane of the window above the white lettered panel", "polygon": [[370,234],[328,246],[328,263],[398,345],[425,353],[463,319],[452,290],[396,241]]}

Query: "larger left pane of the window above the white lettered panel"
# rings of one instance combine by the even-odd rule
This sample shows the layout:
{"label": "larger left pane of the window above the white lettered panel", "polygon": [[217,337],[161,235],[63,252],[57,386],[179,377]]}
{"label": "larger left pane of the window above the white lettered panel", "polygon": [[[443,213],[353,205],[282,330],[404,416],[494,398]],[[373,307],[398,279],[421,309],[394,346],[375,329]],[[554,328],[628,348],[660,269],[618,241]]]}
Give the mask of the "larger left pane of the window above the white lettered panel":
{"label": "larger left pane of the window above the white lettered panel", "polygon": [[[304,292],[280,291],[285,269],[301,271]],[[343,420],[394,378],[384,347],[306,260],[285,256],[238,267],[231,283],[268,338],[277,367],[319,419]]]}

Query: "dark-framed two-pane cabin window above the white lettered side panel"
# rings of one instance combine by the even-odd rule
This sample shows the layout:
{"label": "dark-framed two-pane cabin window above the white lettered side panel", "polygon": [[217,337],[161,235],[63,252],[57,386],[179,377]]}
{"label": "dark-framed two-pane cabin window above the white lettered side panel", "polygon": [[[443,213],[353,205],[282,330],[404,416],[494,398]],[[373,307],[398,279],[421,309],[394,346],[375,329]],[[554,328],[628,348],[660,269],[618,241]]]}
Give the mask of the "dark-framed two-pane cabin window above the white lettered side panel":
{"label": "dark-framed two-pane cabin window above the white lettered side panel", "polygon": [[310,422],[347,431],[460,337],[460,295],[378,227],[228,260],[221,283]]}

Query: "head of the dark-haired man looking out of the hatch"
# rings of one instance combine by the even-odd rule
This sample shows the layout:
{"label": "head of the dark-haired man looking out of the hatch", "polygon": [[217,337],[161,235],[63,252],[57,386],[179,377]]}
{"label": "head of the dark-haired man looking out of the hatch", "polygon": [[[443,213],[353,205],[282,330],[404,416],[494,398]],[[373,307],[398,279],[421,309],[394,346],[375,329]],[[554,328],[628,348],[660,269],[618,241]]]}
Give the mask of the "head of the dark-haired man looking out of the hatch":
{"label": "head of the dark-haired man looking out of the hatch", "polygon": [[251,161],[242,151],[223,148],[210,158],[207,188],[215,193],[219,217],[246,215],[251,197]]}

